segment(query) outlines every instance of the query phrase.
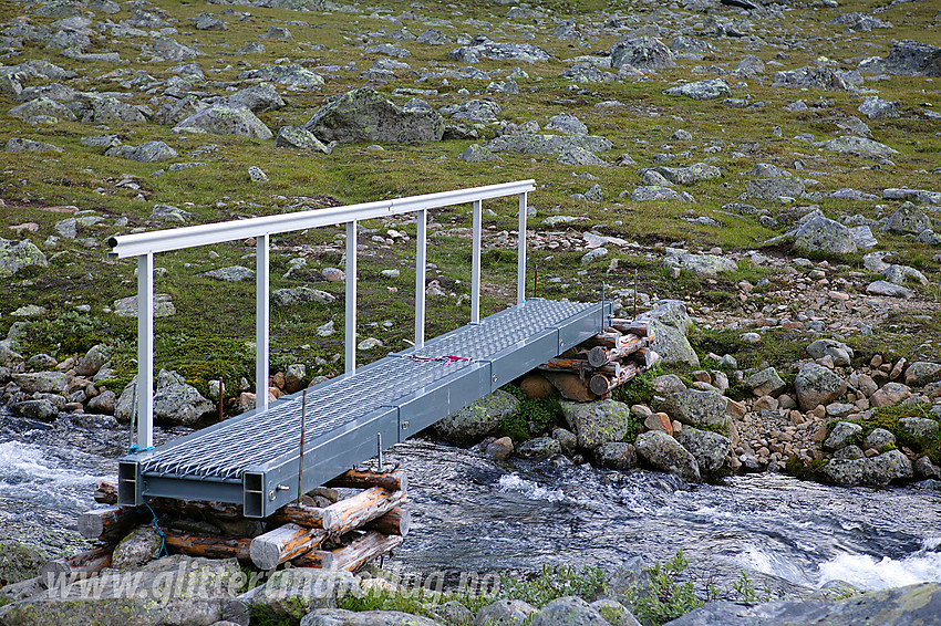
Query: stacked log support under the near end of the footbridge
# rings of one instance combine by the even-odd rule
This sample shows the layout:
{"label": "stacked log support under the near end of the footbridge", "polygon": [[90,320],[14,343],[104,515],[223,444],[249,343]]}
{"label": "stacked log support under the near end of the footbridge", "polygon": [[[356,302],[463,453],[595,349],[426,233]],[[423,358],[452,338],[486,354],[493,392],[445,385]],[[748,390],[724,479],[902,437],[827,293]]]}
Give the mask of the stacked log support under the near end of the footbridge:
{"label": "stacked log support under the near end of the footbridge", "polygon": [[259,523],[246,520],[241,507],[219,502],[153,498],[149,509],[120,507],[114,483],[102,481],[94,495],[101,507],[79,517],[79,531],[96,545],[52,561],[43,574],[71,574],[75,580],[96,574],[111,566],[117,543],[152,524],[154,517],[170,554],[236,557],[266,571],[288,562],[296,567],[354,571],[402,544],[411,528],[411,515],[402,508],[407,490],[404,472],[350,470],[329,484],[360,491],[340,499],[335,490],[319,488],[314,492],[321,498],[332,493],[334,501],[318,505],[303,495]]}

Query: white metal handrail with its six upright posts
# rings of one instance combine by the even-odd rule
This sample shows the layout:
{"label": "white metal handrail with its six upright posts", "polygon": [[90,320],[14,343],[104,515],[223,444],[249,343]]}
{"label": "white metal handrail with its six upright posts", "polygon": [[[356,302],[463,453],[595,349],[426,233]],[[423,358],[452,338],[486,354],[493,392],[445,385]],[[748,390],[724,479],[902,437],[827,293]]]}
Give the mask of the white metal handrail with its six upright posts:
{"label": "white metal handrail with its six upright posts", "polygon": [[[108,255],[137,258],[137,439],[138,449],[153,446],[154,377],[154,254],[213,243],[255,238],[256,240],[256,405],[268,406],[269,358],[269,250],[273,234],[324,226],[347,227],[345,369],[353,372],[356,361],[356,223],[361,220],[415,212],[417,222],[415,254],[415,346],[425,341],[425,271],[427,252],[427,211],[455,205],[473,205],[473,257],[471,322],[480,320],[480,233],[483,201],[507,196],[519,198],[517,258],[517,304],[526,291],[526,199],[536,189],[535,180],[517,180],[453,191],[409,196],[293,213],[262,216],[245,220],[216,222],[151,232],[121,234],[107,240]],[[423,271],[425,270],[425,271]],[[263,298],[262,298],[263,295]],[[145,384],[146,382],[146,384]],[[219,390],[221,393],[221,389]]]}

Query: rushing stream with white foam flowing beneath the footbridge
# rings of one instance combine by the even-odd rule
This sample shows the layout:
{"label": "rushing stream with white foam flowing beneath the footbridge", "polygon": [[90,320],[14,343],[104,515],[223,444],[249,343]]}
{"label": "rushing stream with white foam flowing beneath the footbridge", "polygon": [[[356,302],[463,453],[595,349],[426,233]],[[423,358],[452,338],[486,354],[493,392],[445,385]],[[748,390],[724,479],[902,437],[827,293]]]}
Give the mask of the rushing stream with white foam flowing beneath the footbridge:
{"label": "rushing stream with white foam flowing beneath the footbridge", "polygon": [[[157,430],[158,441],[185,430]],[[44,425],[0,413],[0,536],[83,545],[76,515],[97,480],[114,480],[125,429],[61,416]],[[690,486],[662,473],[498,463],[427,440],[395,446],[386,463],[410,480],[412,532],[385,563],[413,575],[613,571],[683,549],[693,571],[728,588],[743,571],[772,591],[841,580],[864,588],[941,582],[941,492],[845,489],[780,474]]]}

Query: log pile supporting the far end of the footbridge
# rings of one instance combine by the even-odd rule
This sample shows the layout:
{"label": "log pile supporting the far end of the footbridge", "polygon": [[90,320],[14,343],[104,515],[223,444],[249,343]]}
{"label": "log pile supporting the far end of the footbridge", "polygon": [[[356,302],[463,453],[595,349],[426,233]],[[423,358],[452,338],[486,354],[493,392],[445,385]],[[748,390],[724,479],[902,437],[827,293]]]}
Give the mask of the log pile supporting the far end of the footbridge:
{"label": "log pile supporting the far end of the footbridge", "polygon": [[603,398],[660,361],[660,356],[649,347],[653,340],[653,327],[649,322],[616,319],[604,332],[540,365],[538,369],[577,374],[588,392]]}

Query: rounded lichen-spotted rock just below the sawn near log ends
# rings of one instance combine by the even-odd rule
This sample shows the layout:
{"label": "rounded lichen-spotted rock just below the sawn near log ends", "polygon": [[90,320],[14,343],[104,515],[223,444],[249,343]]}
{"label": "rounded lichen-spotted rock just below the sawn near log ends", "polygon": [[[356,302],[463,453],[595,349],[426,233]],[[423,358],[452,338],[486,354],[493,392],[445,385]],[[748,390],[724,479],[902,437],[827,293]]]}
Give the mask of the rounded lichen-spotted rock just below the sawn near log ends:
{"label": "rounded lichen-spotted rock just below the sawn near log ends", "polygon": [[318,608],[337,608],[349,595],[359,595],[359,580],[350,572],[299,567],[275,572],[252,596],[261,613],[300,619]]}

